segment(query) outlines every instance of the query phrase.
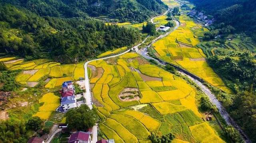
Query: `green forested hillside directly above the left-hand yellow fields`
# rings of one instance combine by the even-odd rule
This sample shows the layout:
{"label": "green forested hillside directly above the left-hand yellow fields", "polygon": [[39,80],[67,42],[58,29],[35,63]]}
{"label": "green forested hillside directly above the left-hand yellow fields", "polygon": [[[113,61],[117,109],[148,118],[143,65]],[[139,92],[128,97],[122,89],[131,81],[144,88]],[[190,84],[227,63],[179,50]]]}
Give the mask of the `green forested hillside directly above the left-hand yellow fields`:
{"label": "green forested hillside directly above the left-hand yellow fields", "polygon": [[74,63],[139,39],[137,31],[91,18],[40,17],[24,8],[0,4],[0,53]]}

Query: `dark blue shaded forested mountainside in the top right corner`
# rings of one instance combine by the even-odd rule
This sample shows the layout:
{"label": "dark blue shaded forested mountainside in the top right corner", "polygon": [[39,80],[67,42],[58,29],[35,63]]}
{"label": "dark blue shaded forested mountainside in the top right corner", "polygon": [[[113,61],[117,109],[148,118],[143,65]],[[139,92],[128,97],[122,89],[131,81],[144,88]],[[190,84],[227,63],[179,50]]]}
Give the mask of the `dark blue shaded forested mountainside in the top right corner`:
{"label": "dark blue shaded forested mountainside in the top right corner", "polygon": [[189,0],[197,10],[213,15],[216,23],[232,25],[236,32],[246,32],[256,39],[255,0]]}

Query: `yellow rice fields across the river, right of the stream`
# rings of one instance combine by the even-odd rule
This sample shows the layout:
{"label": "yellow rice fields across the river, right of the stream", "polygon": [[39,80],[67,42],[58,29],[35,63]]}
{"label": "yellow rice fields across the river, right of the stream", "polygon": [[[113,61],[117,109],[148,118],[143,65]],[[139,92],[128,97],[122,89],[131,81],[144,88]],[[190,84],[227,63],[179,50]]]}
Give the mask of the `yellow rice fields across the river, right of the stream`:
{"label": "yellow rice fields across the river, right of the stream", "polygon": [[185,14],[178,17],[180,27],[153,44],[154,54],[160,59],[178,65],[203,78],[213,86],[231,93],[222,79],[207,64],[202,49],[196,47],[208,29],[196,24]]}

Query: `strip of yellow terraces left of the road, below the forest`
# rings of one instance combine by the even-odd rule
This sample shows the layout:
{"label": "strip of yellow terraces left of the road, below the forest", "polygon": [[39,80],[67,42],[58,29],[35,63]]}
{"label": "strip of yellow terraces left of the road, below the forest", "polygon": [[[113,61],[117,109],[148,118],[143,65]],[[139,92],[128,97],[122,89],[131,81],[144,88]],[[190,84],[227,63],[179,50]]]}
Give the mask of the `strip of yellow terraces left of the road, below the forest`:
{"label": "strip of yellow terraces left of the road, below the forest", "polygon": [[9,70],[22,70],[16,77],[16,82],[28,84],[28,82],[39,82],[40,80],[51,80],[46,83],[46,88],[56,88],[67,80],[79,80],[84,77],[84,63],[60,65],[48,59],[37,59],[26,61],[16,57],[0,58]]}

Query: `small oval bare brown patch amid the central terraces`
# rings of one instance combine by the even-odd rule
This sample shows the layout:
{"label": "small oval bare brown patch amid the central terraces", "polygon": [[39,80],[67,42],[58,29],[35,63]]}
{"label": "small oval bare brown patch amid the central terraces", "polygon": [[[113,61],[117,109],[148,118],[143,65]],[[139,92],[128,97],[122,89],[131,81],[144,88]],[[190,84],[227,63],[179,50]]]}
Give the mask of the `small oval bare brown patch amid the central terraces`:
{"label": "small oval bare brown patch amid the central terraces", "polygon": [[118,98],[121,101],[129,102],[129,101],[135,101],[140,100],[139,97],[139,90],[138,88],[124,88],[122,92],[118,95]]}

